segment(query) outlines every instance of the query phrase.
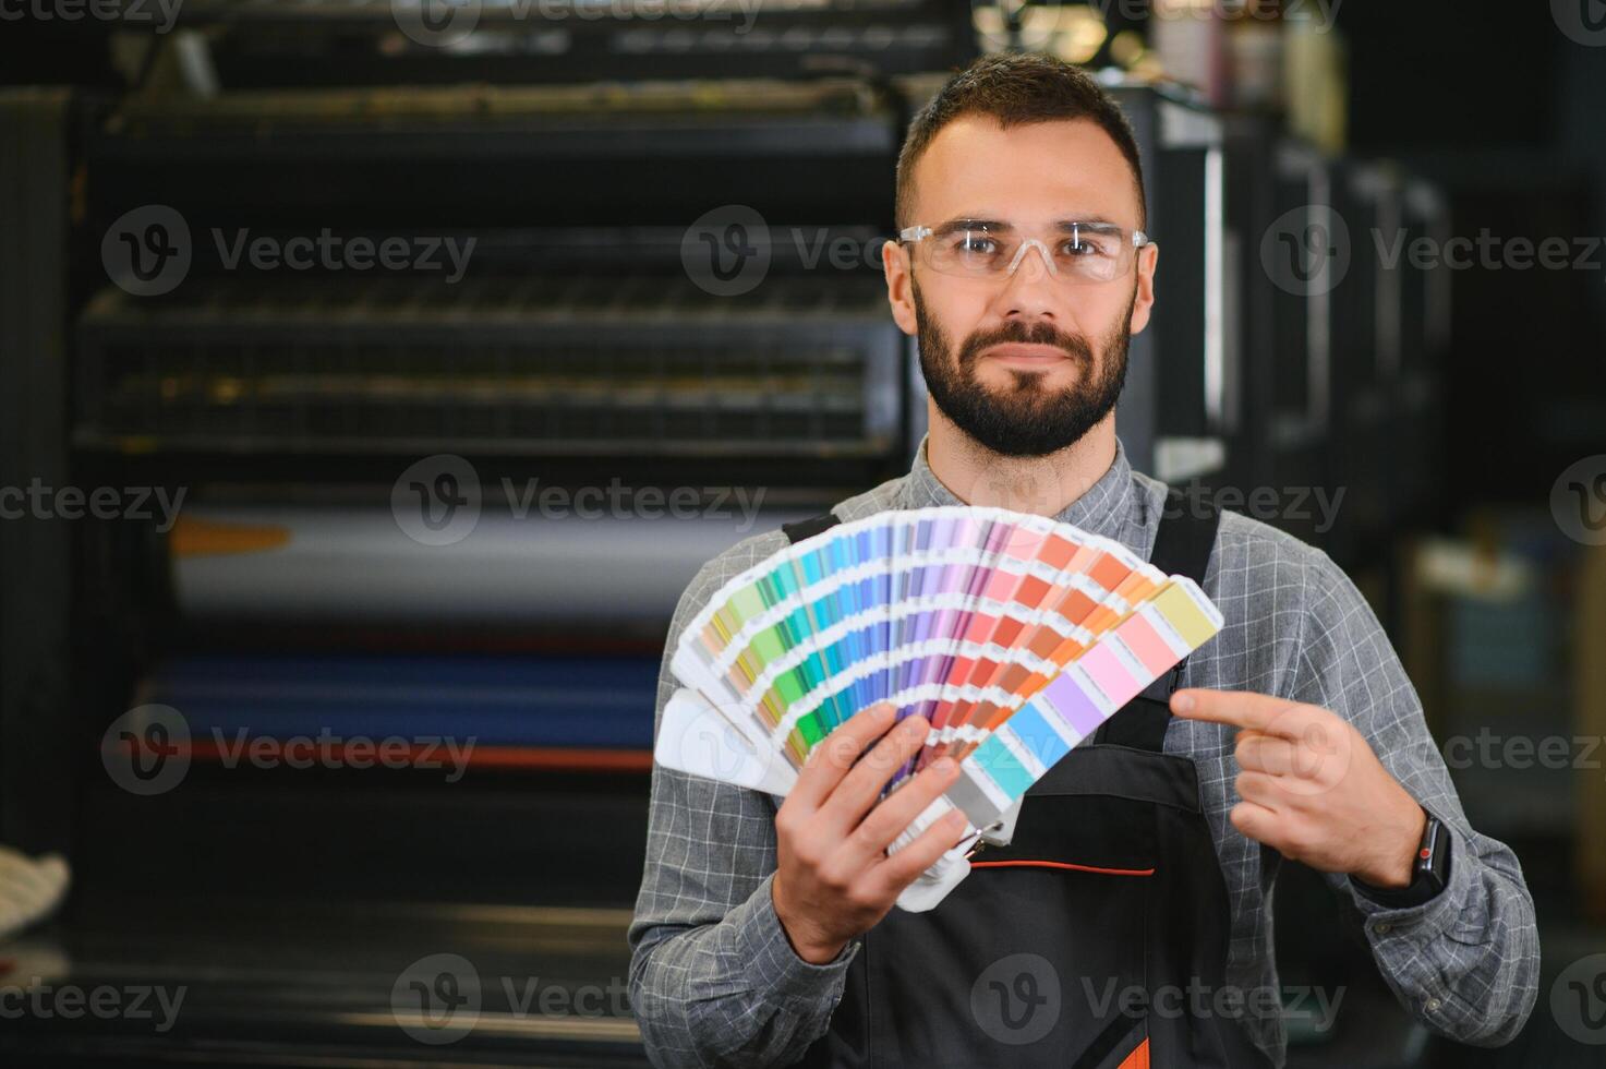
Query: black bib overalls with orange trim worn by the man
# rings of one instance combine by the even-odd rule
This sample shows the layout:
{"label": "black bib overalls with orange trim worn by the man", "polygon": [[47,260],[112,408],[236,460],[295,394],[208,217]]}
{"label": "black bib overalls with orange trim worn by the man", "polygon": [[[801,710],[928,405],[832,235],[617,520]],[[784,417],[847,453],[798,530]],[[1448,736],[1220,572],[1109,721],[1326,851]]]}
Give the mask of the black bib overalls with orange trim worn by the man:
{"label": "black bib overalls with orange trim worn by the man", "polygon": [[[1172,495],[1150,559],[1203,584],[1217,519]],[[940,907],[895,908],[866,932],[830,1030],[798,1064],[1270,1066],[1241,1019],[1280,1008],[1225,987],[1227,887],[1198,776],[1163,752],[1180,672],[1033,784],[1010,844],[973,852]]]}

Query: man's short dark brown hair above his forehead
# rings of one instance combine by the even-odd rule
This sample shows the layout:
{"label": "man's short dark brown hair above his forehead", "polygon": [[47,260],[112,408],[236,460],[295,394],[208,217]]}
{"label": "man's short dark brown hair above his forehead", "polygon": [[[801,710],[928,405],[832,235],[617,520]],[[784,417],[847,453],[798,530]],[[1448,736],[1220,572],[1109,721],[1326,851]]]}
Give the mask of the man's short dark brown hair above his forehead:
{"label": "man's short dark brown hair above his forehead", "polygon": [[1143,166],[1137,156],[1132,125],[1115,100],[1086,71],[1063,59],[1037,53],[981,56],[938,90],[909,124],[903,149],[898,153],[898,228],[914,225],[907,219],[914,201],[914,166],[930,148],[931,138],[962,116],[991,116],[1009,129],[1028,122],[1055,119],[1090,119],[1110,135],[1126,162],[1132,166],[1137,188],[1139,227],[1148,225],[1143,196]]}

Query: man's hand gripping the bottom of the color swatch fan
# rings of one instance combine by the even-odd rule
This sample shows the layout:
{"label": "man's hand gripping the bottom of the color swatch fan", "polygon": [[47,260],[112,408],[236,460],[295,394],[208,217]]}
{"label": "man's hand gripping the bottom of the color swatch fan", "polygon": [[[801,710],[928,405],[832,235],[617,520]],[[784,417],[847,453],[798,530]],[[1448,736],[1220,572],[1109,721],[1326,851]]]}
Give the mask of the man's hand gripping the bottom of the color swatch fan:
{"label": "man's hand gripping the bottom of the color swatch fan", "polygon": [[825,736],[776,813],[771,897],[792,948],[805,961],[834,960],[964,838],[965,815],[954,810],[909,846],[887,854],[888,844],[959,778],[959,764],[941,757],[877,804],[882,788],[920,752],[930,731],[925,717],[907,717],[888,731],[893,719],[891,706],[870,706]]}

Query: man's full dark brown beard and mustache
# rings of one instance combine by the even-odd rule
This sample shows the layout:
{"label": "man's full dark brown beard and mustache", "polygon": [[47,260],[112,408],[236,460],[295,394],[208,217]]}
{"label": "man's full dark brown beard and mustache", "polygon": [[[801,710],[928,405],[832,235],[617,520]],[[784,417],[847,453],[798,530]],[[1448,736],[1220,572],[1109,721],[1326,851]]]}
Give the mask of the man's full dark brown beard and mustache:
{"label": "man's full dark brown beard and mustache", "polygon": [[[1047,320],[1012,320],[994,331],[965,338],[956,354],[948,333],[927,312],[920,286],[914,286],[919,323],[920,371],[938,410],[975,442],[1001,457],[1047,457],[1079,442],[1115,408],[1126,384],[1126,358],[1132,341],[1132,304],[1103,339],[1099,354],[1081,334],[1066,334]],[[1054,346],[1076,363],[1078,381],[1063,389],[1044,386],[1042,371],[1012,370],[1013,383],[993,389],[976,376],[981,350],[1001,342]]]}

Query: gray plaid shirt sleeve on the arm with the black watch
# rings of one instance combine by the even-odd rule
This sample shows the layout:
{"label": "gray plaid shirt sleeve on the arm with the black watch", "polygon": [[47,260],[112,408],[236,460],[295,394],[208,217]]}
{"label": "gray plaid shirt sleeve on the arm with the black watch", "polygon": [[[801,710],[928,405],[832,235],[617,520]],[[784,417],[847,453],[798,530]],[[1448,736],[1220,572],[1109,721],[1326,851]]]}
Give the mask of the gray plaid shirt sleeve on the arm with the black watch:
{"label": "gray plaid shirt sleeve on the arm with the black watch", "polygon": [[1349,720],[1383,767],[1450,833],[1450,879],[1389,908],[1349,891],[1384,981],[1416,1018],[1461,1043],[1510,1042],[1539,995],[1539,929],[1516,855],[1466,820],[1421,702],[1372,608],[1322,551],[1306,569],[1307,616],[1290,698]]}

